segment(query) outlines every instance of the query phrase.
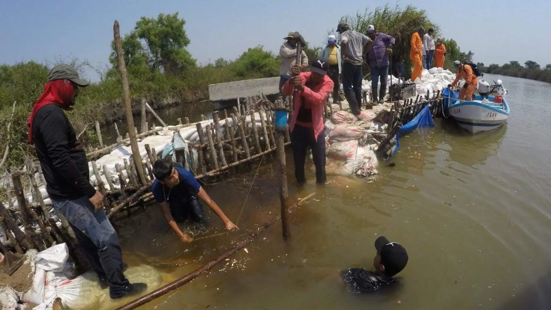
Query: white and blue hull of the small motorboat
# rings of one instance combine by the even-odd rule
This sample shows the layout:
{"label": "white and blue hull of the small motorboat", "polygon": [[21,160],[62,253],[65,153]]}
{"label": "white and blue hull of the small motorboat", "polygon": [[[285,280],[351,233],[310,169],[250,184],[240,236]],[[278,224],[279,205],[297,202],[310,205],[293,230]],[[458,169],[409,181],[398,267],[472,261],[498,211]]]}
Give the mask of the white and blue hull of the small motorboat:
{"label": "white and blue hull of the small motorboat", "polygon": [[449,111],[457,125],[471,133],[499,128],[509,117],[506,101],[503,104],[457,101],[450,105]]}

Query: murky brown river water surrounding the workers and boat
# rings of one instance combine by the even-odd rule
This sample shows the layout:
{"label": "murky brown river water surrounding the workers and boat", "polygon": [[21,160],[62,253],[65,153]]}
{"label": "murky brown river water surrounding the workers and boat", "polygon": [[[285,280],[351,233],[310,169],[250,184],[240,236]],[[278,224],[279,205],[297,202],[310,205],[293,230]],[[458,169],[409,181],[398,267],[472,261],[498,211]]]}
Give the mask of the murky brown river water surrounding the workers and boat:
{"label": "murky brown river water surrounding the workers and boat", "polygon": [[[402,138],[395,167],[381,163],[371,183],[329,175],[329,184],[316,186],[309,164],[310,181],[298,189],[289,155],[290,197],[316,193],[291,213],[291,239],[283,241],[278,223],[248,253],[141,309],[551,308],[551,137],[544,125],[551,84],[484,78],[500,78],[509,90],[505,126],[472,136],[437,119],[428,133]],[[257,164],[203,185],[240,231],[223,233],[207,211],[211,228],[182,244],[152,207],[118,223],[125,260],[152,265],[169,282],[224,252],[279,212],[277,170],[273,159],[266,162],[245,205]],[[372,268],[382,235],[408,251],[399,284],[373,295],[348,292],[339,270]]]}

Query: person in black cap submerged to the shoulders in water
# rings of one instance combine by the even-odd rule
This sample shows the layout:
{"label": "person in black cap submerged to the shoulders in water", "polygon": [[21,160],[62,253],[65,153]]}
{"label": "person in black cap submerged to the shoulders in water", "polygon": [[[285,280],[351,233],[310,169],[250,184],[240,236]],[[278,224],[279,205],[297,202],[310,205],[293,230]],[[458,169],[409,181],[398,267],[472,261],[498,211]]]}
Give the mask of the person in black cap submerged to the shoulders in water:
{"label": "person in black cap submerged to the shoulders in water", "polygon": [[408,263],[408,253],[402,245],[389,242],[386,237],[375,240],[377,255],[373,260],[375,271],[352,268],[341,271],[343,281],[353,293],[372,293],[396,282],[396,275]]}

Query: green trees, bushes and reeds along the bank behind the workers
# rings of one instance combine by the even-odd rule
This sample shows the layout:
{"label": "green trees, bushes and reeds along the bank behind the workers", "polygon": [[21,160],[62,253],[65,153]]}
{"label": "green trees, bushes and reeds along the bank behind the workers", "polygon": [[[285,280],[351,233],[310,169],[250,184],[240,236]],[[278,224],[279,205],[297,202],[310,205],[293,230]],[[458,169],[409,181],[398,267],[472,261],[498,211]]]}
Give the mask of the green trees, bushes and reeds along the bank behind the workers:
{"label": "green trees, bushes and reeds along the bank behind the workers", "polygon": [[[414,6],[390,7],[387,4],[372,10],[365,9],[364,12],[358,11],[355,15],[346,15],[341,20],[362,33],[367,25],[373,24],[377,31],[395,36],[393,57],[402,58],[408,72],[411,70],[408,56],[411,34],[423,26],[432,27],[436,36],[443,36],[439,34],[438,25],[430,21],[426,11]],[[332,23],[336,25],[338,22],[334,20]],[[235,60],[218,58],[213,63],[198,65],[186,49],[190,40],[185,23],[179,13],[159,14],[156,18],[142,17],[130,33],[122,36],[134,111],[139,110],[141,98],[148,100],[154,108],[163,108],[208,99],[209,84],[279,76],[280,56],[277,51],[266,51],[261,45],[247,49]],[[330,26],[332,24],[328,24]],[[282,31],[282,37],[287,31]],[[447,49],[446,67],[451,66],[451,62],[456,59],[472,61],[473,52],[461,52],[453,39],[445,40],[444,44]],[[310,42],[304,50],[309,58],[315,58],[322,47]],[[83,131],[96,120],[105,123],[124,117],[122,84],[117,72],[114,42],[111,42],[111,50],[108,59],[110,66],[105,70],[98,70],[87,61],[77,58],[70,61],[57,60],[51,64],[29,61],[0,65],[0,122],[6,125],[11,123],[9,128],[0,128],[0,152],[3,154],[9,146],[6,163],[0,167],[0,171],[8,167],[20,167],[26,156],[33,156],[32,148],[26,143],[26,122],[32,105],[44,90],[48,71],[58,63],[75,67],[83,77],[88,70],[94,70],[100,76],[99,82],[82,89],[75,110],[67,113],[76,132]],[[17,104],[12,116],[14,101]],[[80,139],[83,144],[97,142],[93,130],[86,130]]]}

